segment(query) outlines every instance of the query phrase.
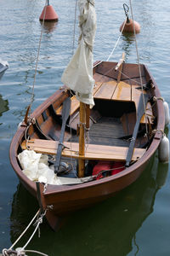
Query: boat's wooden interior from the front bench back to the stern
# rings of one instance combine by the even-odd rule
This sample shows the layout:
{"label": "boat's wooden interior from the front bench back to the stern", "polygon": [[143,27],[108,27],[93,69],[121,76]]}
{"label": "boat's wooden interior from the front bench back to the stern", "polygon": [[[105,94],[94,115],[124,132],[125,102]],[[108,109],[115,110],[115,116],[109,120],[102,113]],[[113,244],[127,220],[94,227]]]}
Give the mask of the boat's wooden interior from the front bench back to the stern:
{"label": "boat's wooden interior from the front bench back to the stern", "polygon": [[[108,68],[107,65],[110,67]],[[116,63],[102,62],[94,68],[95,105],[90,109],[89,124],[85,128],[86,148],[83,156],[88,166],[98,160],[121,161],[122,165],[125,163],[137,120],[139,97],[152,86],[143,66],[141,66],[141,79],[146,90],[141,90],[139,85],[137,65],[123,64],[121,78],[119,73],[115,72],[115,67]],[[65,128],[61,160],[71,162],[74,169],[77,169],[80,102],[77,101],[73,92],[70,94],[69,90],[65,90],[63,95],[71,96],[71,111]],[[144,154],[149,145],[148,137],[145,136],[146,126],[152,129],[155,125],[156,116],[150,102],[147,102],[145,113],[147,113],[147,119],[145,114],[140,119],[133,162]],[[27,143],[25,140],[22,141],[21,148],[30,148],[42,154],[56,154],[61,125],[62,100],[60,103],[56,100],[37,117],[34,125],[30,126],[27,131],[30,140]]]}

